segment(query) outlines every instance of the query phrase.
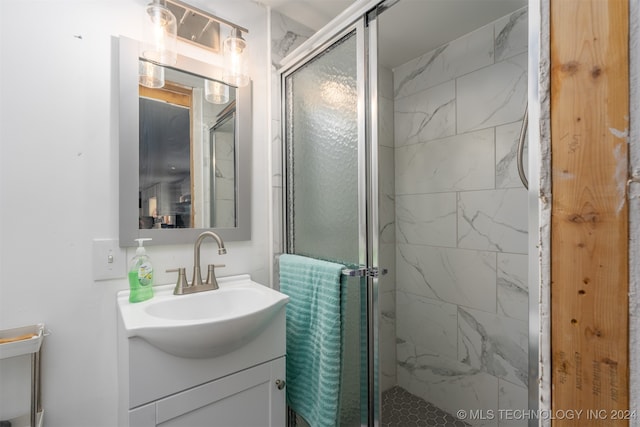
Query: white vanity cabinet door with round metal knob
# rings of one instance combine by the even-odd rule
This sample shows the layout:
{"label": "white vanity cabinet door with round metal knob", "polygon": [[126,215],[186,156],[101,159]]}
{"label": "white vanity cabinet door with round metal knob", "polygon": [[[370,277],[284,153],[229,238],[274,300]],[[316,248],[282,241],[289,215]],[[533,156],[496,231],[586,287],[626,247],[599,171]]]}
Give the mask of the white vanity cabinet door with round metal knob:
{"label": "white vanity cabinet door with round metal knob", "polygon": [[[284,427],[285,378],[281,357],[155,402],[163,427]],[[134,426],[135,424],[131,424]]]}

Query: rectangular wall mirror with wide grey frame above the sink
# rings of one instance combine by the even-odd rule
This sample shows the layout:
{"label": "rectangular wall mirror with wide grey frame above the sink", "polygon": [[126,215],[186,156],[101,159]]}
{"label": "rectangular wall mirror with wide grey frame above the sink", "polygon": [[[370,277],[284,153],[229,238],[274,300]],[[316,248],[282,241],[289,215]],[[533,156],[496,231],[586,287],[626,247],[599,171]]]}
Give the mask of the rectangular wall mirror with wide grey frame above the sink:
{"label": "rectangular wall mirror with wide grey frame above the sink", "polygon": [[[229,86],[182,56],[174,67],[147,63],[124,37],[119,61],[120,246],[192,243],[211,229],[249,240],[251,85]],[[161,68],[161,87],[139,85],[149,66]]]}

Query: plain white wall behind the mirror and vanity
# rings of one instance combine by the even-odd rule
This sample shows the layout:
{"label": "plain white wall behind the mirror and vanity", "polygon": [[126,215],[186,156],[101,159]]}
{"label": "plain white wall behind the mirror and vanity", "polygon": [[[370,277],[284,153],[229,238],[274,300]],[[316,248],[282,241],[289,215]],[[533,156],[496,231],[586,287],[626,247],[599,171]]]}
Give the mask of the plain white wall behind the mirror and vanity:
{"label": "plain white wall behind the mirror and vanity", "polygon": [[[47,426],[116,425],[115,294],[128,285],[124,277],[94,282],[91,248],[92,239],[118,235],[112,36],[140,38],[146,3],[0,2],[0,329],[44,322],[51,330],[43,348]],[[222,274],[249,272],[268,284],[267,11],[249,0],[194,5],[250,30],[253,233],[227,244]],[[190,245],[148,252],[157,283],[174,280],[165,269],[193,263]],[[208,247],[203,258],[214,252]],[[1,373],[11,393],[10,372]],[[5,411],[0,400],[0,419]]]}

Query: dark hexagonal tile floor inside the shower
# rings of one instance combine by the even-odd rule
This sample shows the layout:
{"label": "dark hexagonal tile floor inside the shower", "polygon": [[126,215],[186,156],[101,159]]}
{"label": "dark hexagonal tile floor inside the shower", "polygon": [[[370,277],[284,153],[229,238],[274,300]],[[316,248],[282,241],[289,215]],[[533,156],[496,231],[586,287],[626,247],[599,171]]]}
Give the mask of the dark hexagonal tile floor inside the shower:
{"label": "dark hexagonal tile floor inside the shower", "polygon": [[382,427],[463,427],[469,425],[398,386],[382,393],[382,416],[380,418]]}

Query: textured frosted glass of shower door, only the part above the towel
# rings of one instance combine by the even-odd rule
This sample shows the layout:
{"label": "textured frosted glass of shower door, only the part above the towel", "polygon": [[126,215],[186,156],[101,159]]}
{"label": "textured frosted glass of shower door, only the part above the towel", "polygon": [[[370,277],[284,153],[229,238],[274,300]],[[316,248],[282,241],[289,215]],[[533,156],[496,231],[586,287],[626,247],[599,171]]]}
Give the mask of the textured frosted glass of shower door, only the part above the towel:
{"label": "textured frosted glass of shower door, only the part above the towel", "polygon": [[356,36],[288,75],[289,249],[360,262]]}

